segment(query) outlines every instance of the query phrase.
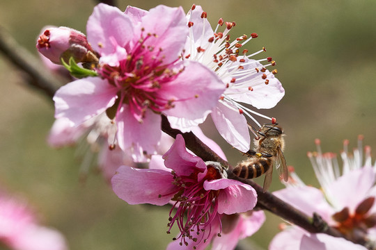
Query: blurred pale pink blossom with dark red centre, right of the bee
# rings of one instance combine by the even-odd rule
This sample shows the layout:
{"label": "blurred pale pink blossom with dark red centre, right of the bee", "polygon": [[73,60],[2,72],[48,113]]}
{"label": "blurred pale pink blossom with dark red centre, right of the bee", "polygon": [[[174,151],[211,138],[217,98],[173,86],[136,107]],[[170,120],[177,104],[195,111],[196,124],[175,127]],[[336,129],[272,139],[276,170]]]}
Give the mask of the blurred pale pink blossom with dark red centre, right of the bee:
{"label": "blurred pale pink blossom with dark red centre, right of the bee", "polygon": [[[308,152],[321,184],[321,189],[304,185],[299,176],[290,171],[287,188],[274,192],[292,206],[308,215],[317,213],[329,226],[343,233],[354,242],[376,240],[376,186],[375,166],[371,164],[370,147],[365,147],[365,157],[361,137],[353,153],[340,153],[343,160],[342,174],[335,153],[322,153],[320,141],[317,152]],[[364,158],[364,160],[363,160]],[[343,238],[334,238],[322,233],[308,233],[296,226],[288,226],[274,240],[269,249],[366,249]]]}

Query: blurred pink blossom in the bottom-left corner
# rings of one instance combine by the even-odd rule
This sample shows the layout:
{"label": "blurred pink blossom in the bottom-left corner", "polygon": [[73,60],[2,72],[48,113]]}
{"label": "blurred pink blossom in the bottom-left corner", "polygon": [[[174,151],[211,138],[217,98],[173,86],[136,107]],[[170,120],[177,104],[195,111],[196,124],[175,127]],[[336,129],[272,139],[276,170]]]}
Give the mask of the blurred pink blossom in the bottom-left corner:
{"label": "blurred pink blossom in the bottom-left corner", "polygon": [[40,226],[33,211],[24,203],[0,192],[0,245],[14,250],[66,250],[58,231]]}

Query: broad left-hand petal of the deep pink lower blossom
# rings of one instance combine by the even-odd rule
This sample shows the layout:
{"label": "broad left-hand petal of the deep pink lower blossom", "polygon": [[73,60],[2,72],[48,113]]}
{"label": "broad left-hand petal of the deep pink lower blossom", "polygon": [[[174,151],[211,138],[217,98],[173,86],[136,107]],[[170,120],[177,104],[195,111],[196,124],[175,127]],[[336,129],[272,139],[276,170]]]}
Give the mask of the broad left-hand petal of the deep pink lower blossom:
{"label": "broad left-hand petal of the deep pink lower blossom", "polygon": [[[121,166],[112,177],[112,190],[129,204],[150,203],[163,206],[177,190],[170,172]],[[162,197],[159,197],[159,194]]]}

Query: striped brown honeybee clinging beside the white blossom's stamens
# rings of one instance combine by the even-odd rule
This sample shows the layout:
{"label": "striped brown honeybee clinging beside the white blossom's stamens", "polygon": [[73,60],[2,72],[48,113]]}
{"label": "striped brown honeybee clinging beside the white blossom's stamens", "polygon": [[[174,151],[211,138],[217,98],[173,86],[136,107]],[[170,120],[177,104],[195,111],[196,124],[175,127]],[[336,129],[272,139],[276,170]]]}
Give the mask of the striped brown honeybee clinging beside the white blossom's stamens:
{"label": "striped brown honeybee clinging beside the white blossom's stamens", "polygon": [[279,169],[279,176],[283,176],[283,180],[288,181],[288,167],[282,153],[285,147],[283,139],[285,134],[281,126],[277,125],[264,124],[258,131],[255,131],[259,135],[259,138],[255,139],[256,149],[247,151],[246,155],[249,158],[238,163],[233,169],[233,173],[240,178],[256,178],[265,174],[264,192],[272,183],[274,163]]}

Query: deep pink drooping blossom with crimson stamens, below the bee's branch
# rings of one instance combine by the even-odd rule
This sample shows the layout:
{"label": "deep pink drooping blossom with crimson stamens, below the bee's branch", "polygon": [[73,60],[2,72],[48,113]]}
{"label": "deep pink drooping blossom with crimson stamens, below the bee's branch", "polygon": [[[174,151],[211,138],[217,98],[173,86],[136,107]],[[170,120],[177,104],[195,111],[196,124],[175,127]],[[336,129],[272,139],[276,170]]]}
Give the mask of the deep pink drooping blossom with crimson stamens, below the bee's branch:
{"label": "deep pink drooping blossom with crimson stamens, below the bee's branch", "polygon": [[[251,186],[226,178],[218,163],[204,163],[191,155],[181,135],[163,158],[164,166],[153,156],[150,169],[119,167],[112,178],[112,188],[130,204],[173,203],[168,232],[177,224],[180,235],[176,240],[180,239],[180,243],[190,242],[198,247],[211,232],[221,233],[220,227],[212,226],[220,215],[243,213],[256,206],[257,194]],[[205,237],[196,238],[197,231],[205,232]]]}

